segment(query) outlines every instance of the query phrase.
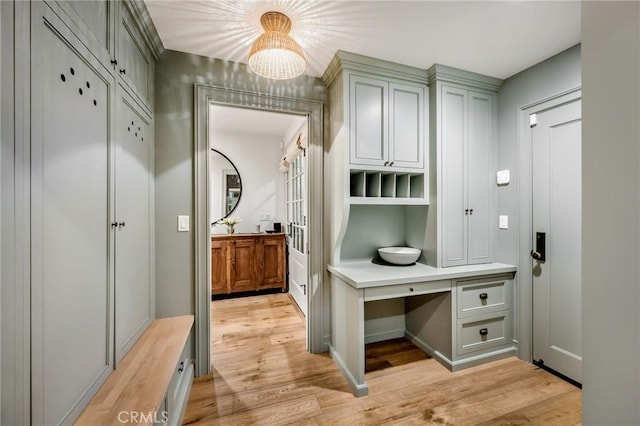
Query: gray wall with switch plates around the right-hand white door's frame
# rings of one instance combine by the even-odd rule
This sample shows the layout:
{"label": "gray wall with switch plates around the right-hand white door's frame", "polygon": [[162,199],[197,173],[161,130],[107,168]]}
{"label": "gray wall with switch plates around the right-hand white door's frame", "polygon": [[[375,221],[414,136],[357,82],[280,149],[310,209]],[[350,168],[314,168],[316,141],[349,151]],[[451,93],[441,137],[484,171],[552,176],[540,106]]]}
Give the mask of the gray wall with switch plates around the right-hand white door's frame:
{"label": "gray wall with switch plates around the right-hand white door's frame", "polygon": [[[498,232],[498,262],[518,265],[520,252],[518,186],[518,126],[521,107],[579,87],[580,46],[574,46],[504,81],[498,94],[498,170],[511,171],[511,183],[498,188],[498,214],[509,216],[509,229]],[[530,161],[530,156],[529,156]],[[496,218],[497,222],[497,218]],[[497,226],[497,224],[496,224]],[[531,357],[531,301],[524,290],[525,277],[516,274],[514,292],[514,337],[520,357]],[[519,291],[522,289],[523,291]],[[525,300],[521,299],[524,295]],[[521,312],[522,310],[522,312]],[[522,321],[519,318],[523,317]]]}

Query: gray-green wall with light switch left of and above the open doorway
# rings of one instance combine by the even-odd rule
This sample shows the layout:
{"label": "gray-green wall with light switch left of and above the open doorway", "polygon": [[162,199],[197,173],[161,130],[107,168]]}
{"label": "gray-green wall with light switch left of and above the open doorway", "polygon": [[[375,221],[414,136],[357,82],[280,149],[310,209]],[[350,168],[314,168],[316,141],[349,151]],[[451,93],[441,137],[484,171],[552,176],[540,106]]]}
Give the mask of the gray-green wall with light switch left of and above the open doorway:
{"label": "gray-green wall with light switch left of and above the open doorway", "polygon": [[193,314],[194,236],[178,233],[176,217],[193,228],[194,84],[273,96],[325,100],[320,79],[300,76],[274,82],[238,64],[166,51],[156,63],[156,315]]}

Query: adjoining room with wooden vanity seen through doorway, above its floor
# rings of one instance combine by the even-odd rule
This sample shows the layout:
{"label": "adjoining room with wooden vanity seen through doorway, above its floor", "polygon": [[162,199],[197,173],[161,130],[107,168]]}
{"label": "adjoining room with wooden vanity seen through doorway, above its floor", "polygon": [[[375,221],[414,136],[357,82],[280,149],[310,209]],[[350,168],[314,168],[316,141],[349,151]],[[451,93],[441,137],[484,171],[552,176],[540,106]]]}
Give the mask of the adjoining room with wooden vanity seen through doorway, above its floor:
{"label": "adjoining room with wooden vanity seen through doorway, above its floor", "polygon": [[288,293],[306,318],[307,116],[209,108],[212,300]]}

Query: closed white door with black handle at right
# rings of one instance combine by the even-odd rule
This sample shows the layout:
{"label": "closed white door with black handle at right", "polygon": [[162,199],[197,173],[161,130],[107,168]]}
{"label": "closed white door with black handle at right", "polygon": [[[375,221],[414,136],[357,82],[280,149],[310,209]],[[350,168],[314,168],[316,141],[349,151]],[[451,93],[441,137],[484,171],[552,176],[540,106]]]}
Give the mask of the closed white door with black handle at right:
{"label": "closed white door with black handle at right", "polygon": [[580,382],[581,101],[532,118],[533,358]]}

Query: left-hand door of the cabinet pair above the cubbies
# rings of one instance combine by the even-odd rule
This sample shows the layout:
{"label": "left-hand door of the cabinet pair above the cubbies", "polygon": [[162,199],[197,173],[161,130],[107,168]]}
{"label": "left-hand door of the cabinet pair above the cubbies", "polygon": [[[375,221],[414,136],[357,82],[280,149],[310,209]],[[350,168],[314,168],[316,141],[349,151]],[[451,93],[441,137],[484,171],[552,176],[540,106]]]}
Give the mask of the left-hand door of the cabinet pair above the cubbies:
{"label": "left-hand door of the cabinet pair above the cubbies", "polygon": [[358,75],[350,76],[351,164],[388,165],[388,91],[389,83],[386,81]]}

